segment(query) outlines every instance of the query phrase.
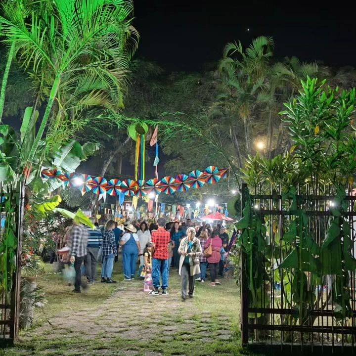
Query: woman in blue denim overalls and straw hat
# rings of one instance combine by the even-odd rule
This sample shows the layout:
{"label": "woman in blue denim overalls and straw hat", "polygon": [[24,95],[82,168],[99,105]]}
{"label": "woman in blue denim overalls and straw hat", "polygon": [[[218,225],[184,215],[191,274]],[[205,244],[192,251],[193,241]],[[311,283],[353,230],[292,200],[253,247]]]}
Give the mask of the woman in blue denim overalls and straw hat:
{"label": "woman in blue denim overalls and straw hat", "polygon": [[125,226],[125,230],[126,233],[121,238],[120,245],[123,249],[124,279],[130,281],[134,278],[138,251],[141,249],[134,225]]}

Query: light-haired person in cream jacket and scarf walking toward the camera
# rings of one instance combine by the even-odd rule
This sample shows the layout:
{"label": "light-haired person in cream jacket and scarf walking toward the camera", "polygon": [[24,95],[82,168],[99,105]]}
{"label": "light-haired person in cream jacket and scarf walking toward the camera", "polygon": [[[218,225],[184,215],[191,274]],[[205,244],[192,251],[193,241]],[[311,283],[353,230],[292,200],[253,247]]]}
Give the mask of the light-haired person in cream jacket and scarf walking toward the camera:
{"label": "light-haired person in cream jacket and scarf walking toward the camera", "polygon": [[186,290],[188,284],[188,297],[193,298],[194,293],[194,276],[200,273],[199,256],[202,253],[200,241],[195,237],[195,228],[189,227],[186,231],[187,236],[180,241],[178,253],[179,275],[181,276],[181,293],[182,301],[186,299]]}

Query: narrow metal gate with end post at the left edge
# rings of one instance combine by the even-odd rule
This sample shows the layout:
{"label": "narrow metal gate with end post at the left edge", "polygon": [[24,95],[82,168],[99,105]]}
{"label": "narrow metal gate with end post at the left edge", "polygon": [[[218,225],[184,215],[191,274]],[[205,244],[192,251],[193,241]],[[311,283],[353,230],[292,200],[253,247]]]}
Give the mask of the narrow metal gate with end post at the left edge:
{"label": "narrow metal gate with end post at the left edge", "polygon": [[[10,212],[9,212],[10,211]],[[7,239],[7,229],[14,229],[15,248],[12,263],[16,265],[12,275],[8,275],[11,281],[11,289],[3,290],[0,287],[0,344],[13,344],[18,335],[20,313],[20,268],[24,218],[24,185],[19,184],[16,189],[1,182],[0,186],[0,213],[1,229],[0,244],[4,247]],[[4,251],[2,251],[5,254]],[[8,260],[8,259],[7,259]],[[4,261],[6,261],[4,255]],[[7,261],[6,261],[7,263]]]}

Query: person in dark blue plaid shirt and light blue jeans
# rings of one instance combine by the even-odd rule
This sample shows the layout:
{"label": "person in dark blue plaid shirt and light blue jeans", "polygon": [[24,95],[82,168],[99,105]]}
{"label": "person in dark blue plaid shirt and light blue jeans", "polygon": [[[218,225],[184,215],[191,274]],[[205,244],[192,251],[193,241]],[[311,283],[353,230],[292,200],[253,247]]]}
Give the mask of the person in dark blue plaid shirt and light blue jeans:
{"label": "person in dark blue plaid shirt and light blue jeans", "polygon": [[102,257],[103,264],[101,267],[101,282],[104,283],[116,283],[111,278],[112,270],[114,267],[114,257],[117,255],[117,248],[114,234],[115,222],[108,220],[105,224],[103,231],[102,242]]}

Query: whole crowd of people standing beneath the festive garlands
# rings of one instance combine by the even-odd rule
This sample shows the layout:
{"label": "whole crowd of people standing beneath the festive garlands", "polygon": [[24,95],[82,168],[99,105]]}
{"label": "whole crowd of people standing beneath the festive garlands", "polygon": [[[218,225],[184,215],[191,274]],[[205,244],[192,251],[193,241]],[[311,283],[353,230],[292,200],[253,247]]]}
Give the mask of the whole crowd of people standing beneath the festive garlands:
{"label": "whole crowd of people standing beneath the festive garlands", "polygon": [[[94,283],[98,261],[102,263],[101,282],[116,283],[112,271],[121,250],[124,281],[138,276],[149,295],[159,295],[160,288],[162,295],[168,295],[169,273],[176,269],[184,301],[193,297],[195,282],[204,283],[208,273],[210,286],[221,284],[235,235],[234,231],[230,239],[222,224],[213,228],[208,223],[194,225],[190,219],[167,223],[159,218],[149,226],[146,222],[119,226],[109,220],[102,227],[95,223],[94,228],[74,223],[68,234],[68,260],[76,273],[74,292],[80,293]],[[83,274],[87,277],[85,284]]]}

